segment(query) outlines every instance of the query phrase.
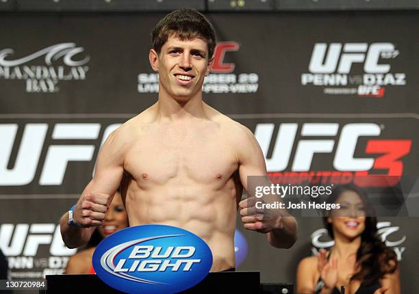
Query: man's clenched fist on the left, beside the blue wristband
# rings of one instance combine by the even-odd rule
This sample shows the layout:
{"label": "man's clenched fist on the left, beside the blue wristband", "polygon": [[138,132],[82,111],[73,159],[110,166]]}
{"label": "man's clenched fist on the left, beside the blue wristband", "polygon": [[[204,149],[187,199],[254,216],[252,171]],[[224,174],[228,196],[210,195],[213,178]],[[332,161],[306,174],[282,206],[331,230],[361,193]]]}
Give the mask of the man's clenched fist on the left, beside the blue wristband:
{"label": "man's clenched fist on the left, beside the blue wristband", "polygon": [[89,192],[81,196],[74,209],[73,219],[83,228],[100,226],[112,198],[105,193]]}

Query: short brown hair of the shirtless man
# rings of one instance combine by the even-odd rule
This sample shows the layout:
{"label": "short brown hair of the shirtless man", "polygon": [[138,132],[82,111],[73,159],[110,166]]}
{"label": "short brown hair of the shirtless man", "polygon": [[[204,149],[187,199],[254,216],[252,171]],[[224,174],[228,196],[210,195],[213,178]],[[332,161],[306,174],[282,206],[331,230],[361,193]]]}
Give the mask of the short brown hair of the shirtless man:
{"label": "short brown hair of the shirtless man", "polygon": [[210,21],[194,9],[179,9],[170,12],[154,27],[151,37],[153,49],[160,54],[167,39],[175,35],[180,40],[201,38],[207,42],[208,59],[211,59],[216,46],[216,34]]}

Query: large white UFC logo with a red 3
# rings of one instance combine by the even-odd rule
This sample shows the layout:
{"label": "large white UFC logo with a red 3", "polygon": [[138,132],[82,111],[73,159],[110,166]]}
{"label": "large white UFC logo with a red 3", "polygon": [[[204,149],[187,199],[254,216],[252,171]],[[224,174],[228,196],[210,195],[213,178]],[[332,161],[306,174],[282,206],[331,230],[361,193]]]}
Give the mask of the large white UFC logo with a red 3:
{"label": "large white UFC logo with a red 3", "polygon": [[[280,172],[287,169],[293,172],[308,172],[312,168],[314,155],[333,153],[333,168],[338,171],[357,172],[359,176],[369,176],[369,171],[387,170],[388,176],[403,174],[403,158],[411,150],[411,139],[369,139],[365,154],[380,154],[378,157],[355,157],[355,148],[359,137],[381,135],[381,129],[374,123],[344,124],[338,135],[338,123],[310,123],[301,127],[301,136],[307,139],[296,139],[298,124],[282,123],[279,125],[277,139],[272,141],[275,124],[257,124],[255,137],[262,148],[268,172]],[[329,137],[311,139],[310,137]],[[338,137],[337,137],[338,136]],[[272,156],[267,158],[270,144],[274,144]],[[292,150],[296,144],[296,151]],[[337,144],[334,149],[335,144]],[[334,151],[335,150],[335,151]]]}

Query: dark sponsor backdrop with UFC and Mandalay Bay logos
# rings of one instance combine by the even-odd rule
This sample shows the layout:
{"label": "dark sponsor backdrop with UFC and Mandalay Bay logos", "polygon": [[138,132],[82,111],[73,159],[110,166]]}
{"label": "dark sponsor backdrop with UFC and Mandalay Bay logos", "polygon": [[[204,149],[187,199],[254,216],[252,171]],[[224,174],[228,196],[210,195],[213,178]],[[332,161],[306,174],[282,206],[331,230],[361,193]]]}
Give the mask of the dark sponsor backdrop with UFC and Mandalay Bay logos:
{"label": "dark sponsor backdrop with UFC and Mandalay Bay logos", "polygon": [[[62,273],[75,253],[58,219],[105,137],[155,103],[149,35],[162,16],[0,15],[0,246],[13,278]],[[205,101],[255,133],[268,172],[417,177],[418,12],[208,16],[219,43]],[[417,214],[379,220],[414,293]],[[294,282],[299,260],[331,245],[318,218],[299,218],[291,250],[238,229],[239,269],[263,282]]]}

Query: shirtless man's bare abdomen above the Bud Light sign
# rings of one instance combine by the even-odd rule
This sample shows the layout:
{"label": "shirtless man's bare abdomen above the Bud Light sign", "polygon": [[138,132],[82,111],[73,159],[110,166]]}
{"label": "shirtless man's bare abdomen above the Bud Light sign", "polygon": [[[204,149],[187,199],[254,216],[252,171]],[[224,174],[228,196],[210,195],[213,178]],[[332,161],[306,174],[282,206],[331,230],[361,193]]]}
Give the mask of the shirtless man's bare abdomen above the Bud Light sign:
{"label": "shirtless man's bare abdomen above the Bud Light sign", "polygon": [[183,228],[210,246],[213,256],[211,271],[235,267],[234,230],[238,197],[232,177],[221,187],[220,183],[211,185],[193,181],[183,185],[168,181],[166,185],[139,187],[132,178],[125,183],[123,199],[130,226],[165,224]]}

